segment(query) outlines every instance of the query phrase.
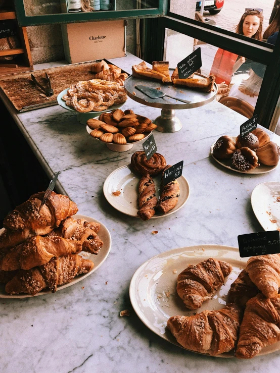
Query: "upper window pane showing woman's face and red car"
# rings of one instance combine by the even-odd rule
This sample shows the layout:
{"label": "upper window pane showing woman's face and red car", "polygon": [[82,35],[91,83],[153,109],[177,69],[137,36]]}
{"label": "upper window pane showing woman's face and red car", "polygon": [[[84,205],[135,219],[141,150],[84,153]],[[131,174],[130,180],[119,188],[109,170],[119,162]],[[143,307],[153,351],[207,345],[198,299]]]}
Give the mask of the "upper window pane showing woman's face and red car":
{"label": "upper window pane showing woman's face and red car", "polygon": [[170,12],[263,40],[280,28],[279,0],[171,0]]}

